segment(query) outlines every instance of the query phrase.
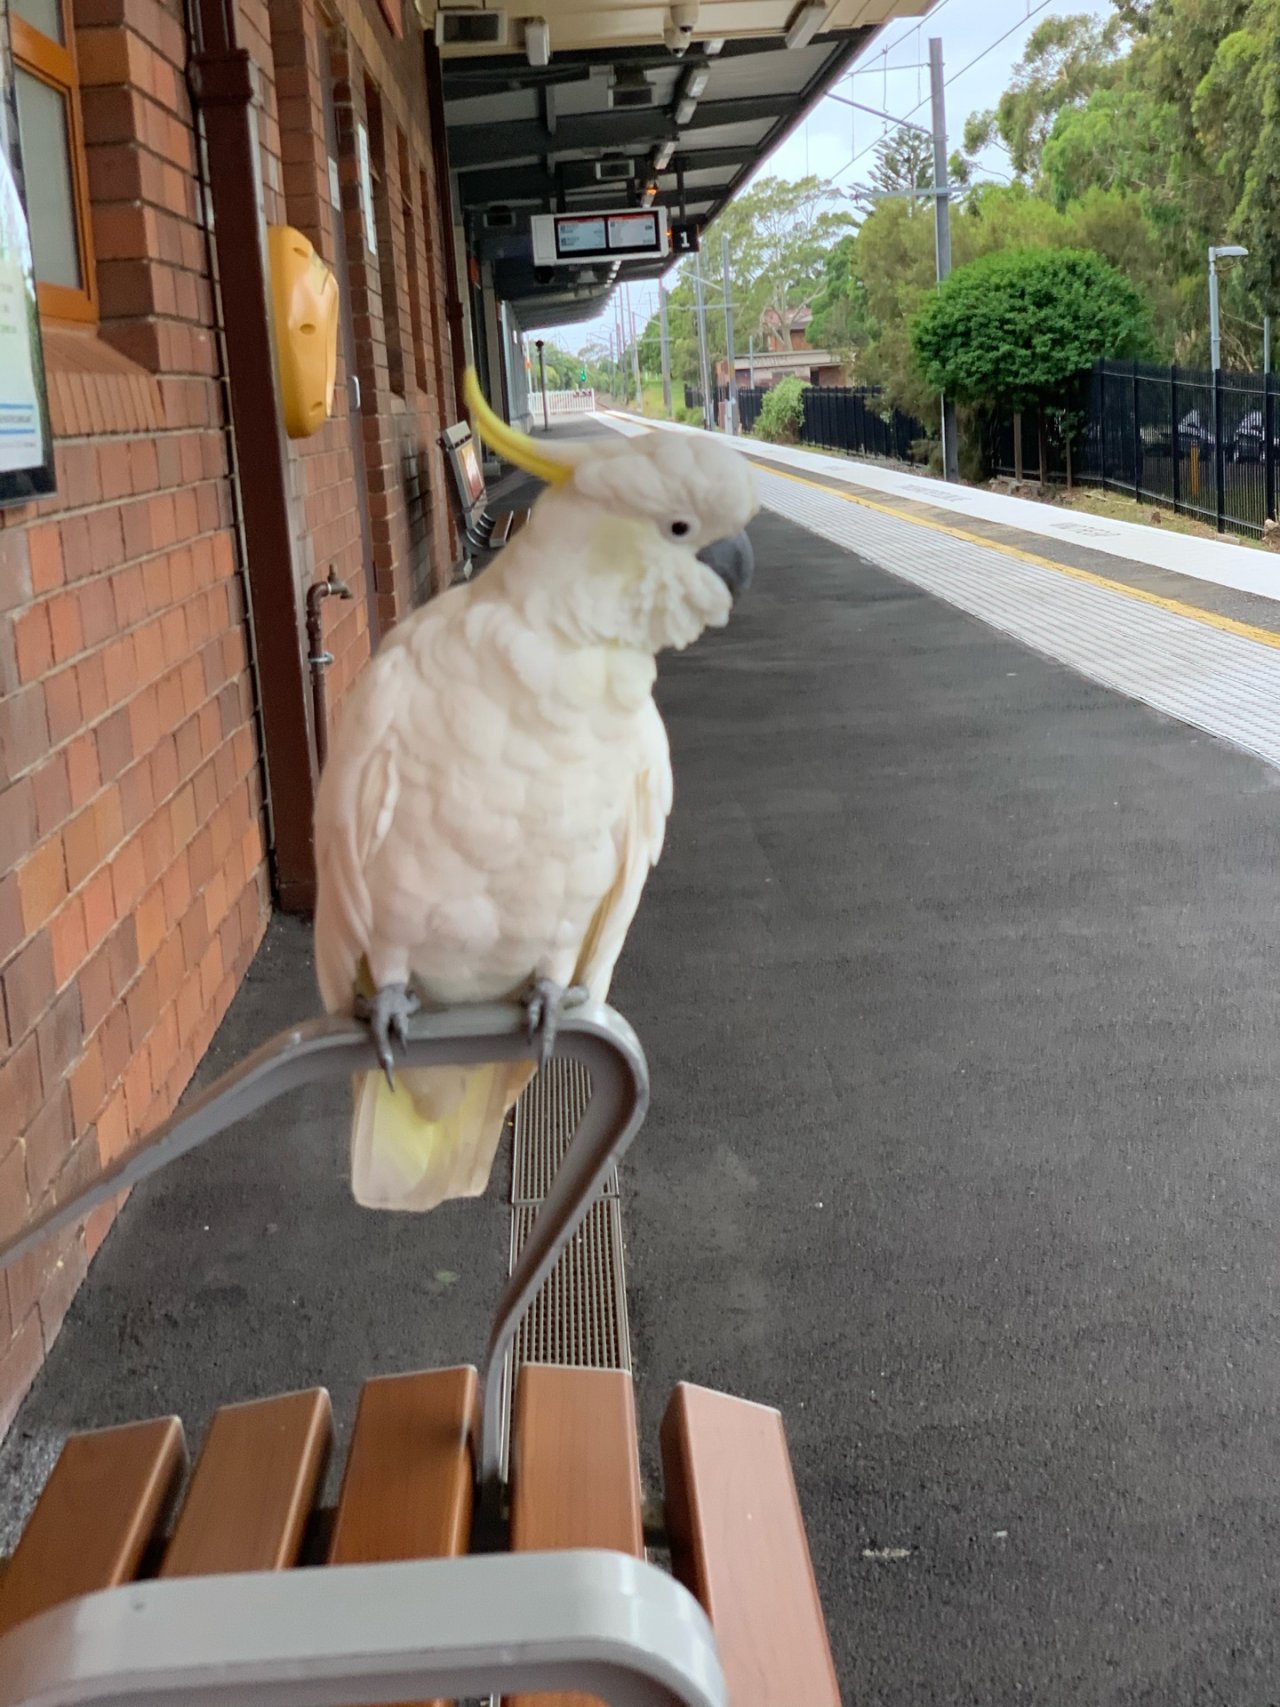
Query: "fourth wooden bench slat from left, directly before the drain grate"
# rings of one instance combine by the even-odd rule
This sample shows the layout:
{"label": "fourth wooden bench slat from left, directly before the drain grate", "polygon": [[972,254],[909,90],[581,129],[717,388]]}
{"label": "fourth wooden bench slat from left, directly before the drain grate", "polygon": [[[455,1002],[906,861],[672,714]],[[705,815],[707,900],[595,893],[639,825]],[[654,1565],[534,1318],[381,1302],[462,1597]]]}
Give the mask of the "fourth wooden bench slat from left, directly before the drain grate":
{"label": "fourth wooden bench slat from left, directly before the drain grate", "polygon": [[[512,1552],[604,1547],[645,1557],[635,1388],[620,1369],[526,1364],[515,1384]],[[526,1695],[507,1707],[594,1707],[591,1695]]]}

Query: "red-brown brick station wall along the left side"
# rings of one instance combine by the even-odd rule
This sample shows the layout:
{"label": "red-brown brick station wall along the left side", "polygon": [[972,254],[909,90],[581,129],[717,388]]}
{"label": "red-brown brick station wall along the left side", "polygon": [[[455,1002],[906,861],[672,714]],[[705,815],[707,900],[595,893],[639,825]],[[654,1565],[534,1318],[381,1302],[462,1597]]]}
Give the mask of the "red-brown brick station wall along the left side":
{"label": "red-brown brick station wall along the left side", "polygon": [[[102,321],[46,331],[58,493],[0,512],[0,1236],[172,1110],[270,910],[183,5],[73,0],[73,12]],[[266,217],[336,265],[357,318],[360,418],[346,417],[340,374],[335,418],[290,449],[299,604],[329,567],[353,592],[324,606],[336,705],[369,655],[360,451],[379,625],[442,587],[454,558],[435,447],[451,364],[422,36],[411,24],[394,39],[374,0],[352,0],[331,38],[314,0],[241,0],[239,22],[261,80]],[[341,210],[324,140],[329,50]],[[391,312],[350,150],[367,89]],[[99,1212],[0,1279],[0,1432],[109,1221]]]}

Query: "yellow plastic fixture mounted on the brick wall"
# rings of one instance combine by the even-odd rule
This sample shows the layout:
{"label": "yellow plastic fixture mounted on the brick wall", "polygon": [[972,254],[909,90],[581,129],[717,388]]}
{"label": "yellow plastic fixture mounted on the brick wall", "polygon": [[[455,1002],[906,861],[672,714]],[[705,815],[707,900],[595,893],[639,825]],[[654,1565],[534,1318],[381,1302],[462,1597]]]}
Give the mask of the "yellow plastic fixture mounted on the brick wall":
{"label": "yellow plastic fixture mounted on the brick wall", "polygon": [[292,225],[266,227],[266,253],[285,432],[309,439],[333,415],[338,280]]}

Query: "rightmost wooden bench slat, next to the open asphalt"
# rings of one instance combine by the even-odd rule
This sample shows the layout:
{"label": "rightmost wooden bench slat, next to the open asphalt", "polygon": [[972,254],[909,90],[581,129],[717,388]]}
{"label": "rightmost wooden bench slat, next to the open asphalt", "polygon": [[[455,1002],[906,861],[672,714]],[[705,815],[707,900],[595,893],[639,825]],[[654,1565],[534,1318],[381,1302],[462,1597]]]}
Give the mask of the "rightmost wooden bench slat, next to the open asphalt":
{"label": "rightmost wooden bench slat, next to the open asphalt", "polygon": [[662,1473],[676,1576],[712,1620],[729,1700],[840,1707],[778,1412],[678,1386]]}

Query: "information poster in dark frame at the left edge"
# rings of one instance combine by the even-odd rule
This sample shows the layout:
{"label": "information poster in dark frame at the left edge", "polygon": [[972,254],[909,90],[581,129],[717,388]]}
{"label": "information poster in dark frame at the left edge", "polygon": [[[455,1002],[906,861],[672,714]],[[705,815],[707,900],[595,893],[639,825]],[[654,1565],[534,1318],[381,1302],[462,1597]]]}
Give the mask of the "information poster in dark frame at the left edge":
{"label": "information poster in dark frame at the left edge", "polygon": [[31,261],[9,5],[0,9],[0,504],[55,490],[44,352]]}

